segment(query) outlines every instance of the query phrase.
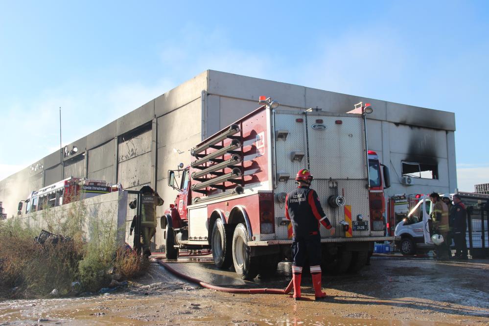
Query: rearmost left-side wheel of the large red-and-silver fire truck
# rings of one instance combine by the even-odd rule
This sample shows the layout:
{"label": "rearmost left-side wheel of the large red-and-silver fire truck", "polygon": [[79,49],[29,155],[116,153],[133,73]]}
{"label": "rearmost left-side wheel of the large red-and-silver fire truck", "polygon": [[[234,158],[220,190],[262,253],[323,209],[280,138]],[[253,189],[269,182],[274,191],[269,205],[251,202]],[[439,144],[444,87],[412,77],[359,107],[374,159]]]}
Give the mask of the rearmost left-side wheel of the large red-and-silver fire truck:
{"label": "rearmost left-side wheel of the large red-and-silver fire truck", "polygon": [[233,233],[233,264],[236,274],[242,279],[254,279],[258,275],[258,257],[251,256],[248,241],[246,226],[239,223]]}

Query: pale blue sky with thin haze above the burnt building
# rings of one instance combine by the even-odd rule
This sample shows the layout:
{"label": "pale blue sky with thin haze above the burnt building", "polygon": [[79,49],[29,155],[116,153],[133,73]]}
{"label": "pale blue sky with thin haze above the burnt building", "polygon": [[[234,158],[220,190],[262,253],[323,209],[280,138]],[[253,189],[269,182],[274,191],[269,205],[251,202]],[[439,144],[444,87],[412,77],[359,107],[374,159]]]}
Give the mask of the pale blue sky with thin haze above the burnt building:
{"label": "pale blue sky with thin haze above the burnt building", "polygon": [[[207,70],[455,112],[489,182],[488,1],[1,1],[0,180]],[[79,112],[83,120],[75,119]]]}

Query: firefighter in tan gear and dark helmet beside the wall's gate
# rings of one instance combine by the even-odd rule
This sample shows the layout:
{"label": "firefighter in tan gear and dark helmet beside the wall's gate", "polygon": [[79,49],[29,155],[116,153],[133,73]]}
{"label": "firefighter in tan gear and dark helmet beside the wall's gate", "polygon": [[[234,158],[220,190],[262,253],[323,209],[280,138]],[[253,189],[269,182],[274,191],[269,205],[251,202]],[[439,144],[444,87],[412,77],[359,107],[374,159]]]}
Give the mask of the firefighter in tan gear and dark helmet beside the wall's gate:
{"label": "firefighter in tan gear and dark helmet beside the wall's gate", "polygon": [[151,238],[156,234],[156,226],[158,225],[156,207],[163,205],[163,199],[150,186],[141,187],[140,194],[142,253],[149,257],[151,255]]}

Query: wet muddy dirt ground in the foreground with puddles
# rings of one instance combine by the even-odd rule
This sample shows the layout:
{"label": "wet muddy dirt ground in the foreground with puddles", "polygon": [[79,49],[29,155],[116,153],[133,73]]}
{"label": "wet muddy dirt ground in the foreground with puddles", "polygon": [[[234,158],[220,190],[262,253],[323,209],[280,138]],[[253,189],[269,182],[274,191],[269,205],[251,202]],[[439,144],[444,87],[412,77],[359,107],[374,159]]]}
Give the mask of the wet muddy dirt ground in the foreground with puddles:
{"label": "wet muddy dirt ground in the foreground with puddles", "polygon": [[[234,287],[284,288],[290,263],[253,282],[219,271],[210,259],[172,264],[192,277]],[[315,302],[309,275],[303,297],[230,294],[201,288],[157,262],[125,291],[70,299],[0,302],[0,325],[489,325],[489,261],[376,256],[353,275],[323,276],[329,295]]]}

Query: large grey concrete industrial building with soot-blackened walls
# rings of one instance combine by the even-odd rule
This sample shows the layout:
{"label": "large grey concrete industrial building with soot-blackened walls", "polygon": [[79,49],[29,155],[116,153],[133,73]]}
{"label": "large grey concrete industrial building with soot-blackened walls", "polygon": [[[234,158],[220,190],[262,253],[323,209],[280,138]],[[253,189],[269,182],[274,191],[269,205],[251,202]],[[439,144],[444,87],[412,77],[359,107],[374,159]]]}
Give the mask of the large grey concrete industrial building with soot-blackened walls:
{"label": "large grey concrete industrial building with soot-blackened walls", "polygon": [[167,186],[167,170],[190,163],[191,147],[258,107],[259,95],[279,101],[280,109],[336,113],[369,102],[374,109],[368,116],[369,149],[390,168],[387,195],[447,193],[457,187],[453,113],[207,70],[73,141],[64,149],[63,164],[56,151],[2,180],[0,200],[10,217],[30,191],[76,176],[125,189],[150,185],[167,207],[176,195]]}

